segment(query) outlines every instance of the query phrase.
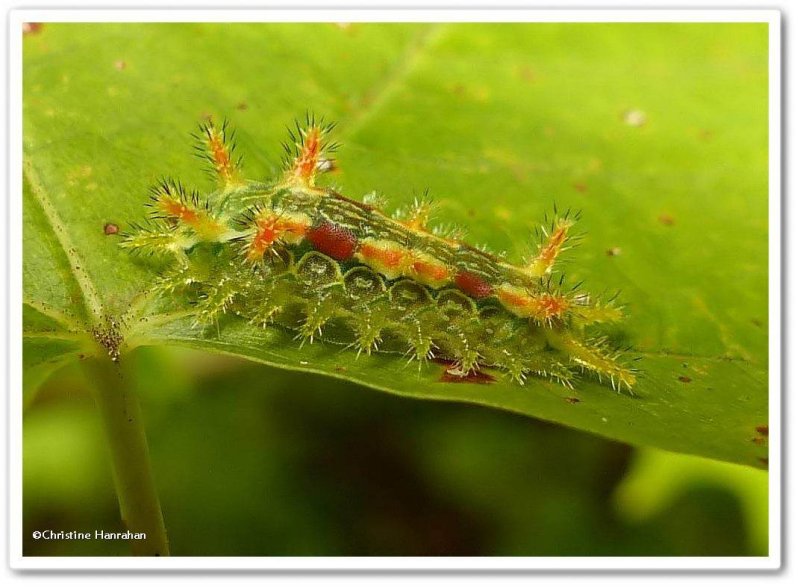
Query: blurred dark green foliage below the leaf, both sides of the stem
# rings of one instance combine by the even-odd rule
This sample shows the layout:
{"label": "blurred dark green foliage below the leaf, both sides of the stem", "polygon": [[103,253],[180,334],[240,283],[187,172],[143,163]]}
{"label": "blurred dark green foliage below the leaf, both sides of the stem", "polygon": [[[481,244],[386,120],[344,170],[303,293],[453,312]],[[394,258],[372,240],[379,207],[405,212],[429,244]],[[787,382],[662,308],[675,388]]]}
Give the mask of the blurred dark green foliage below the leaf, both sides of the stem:
{"label": "blurred dark green foliage below the leaf, both sides of the stem", "polygon": [[[510,413],[206,354],[143,348],[132,361],[176,554],[766,553],[766,496],[747,508],[747,488],[767,474],[752,468],[698,477],[680,468],[707,460],[653,451],[678,467],[643,480],[630,447]],[[25,417],[26,554],[127,553],[30,539],[120,530],[84,388],[64,370]]]}

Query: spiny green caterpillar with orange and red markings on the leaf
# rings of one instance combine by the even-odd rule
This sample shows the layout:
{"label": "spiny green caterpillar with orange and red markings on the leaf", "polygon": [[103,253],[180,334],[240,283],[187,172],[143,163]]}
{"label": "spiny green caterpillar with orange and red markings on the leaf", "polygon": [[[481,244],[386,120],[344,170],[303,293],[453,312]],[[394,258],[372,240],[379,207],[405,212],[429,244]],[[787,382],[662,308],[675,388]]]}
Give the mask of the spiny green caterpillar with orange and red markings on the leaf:
{"label": "spiny green caterpillar with orange and red markings on the leaf", "polygon": [[494,368],[520,384],[538,376],[572,388],[590,372],[617,391],[632,388],[636,370],[592,335],[621,320],[621,308],[555,279],[579,214],[555,214],[536,251],[514,264],[429,228],[427,195],[389,215],[374,193],[355,200],[318,186],[336,165],[333,130],[313,115],[297,121],[282,175],[262,182],[242,175],[228,122],[207,119],[193,137],[216,189],[201,195],[159,181],[149,218],[123,233],[122,247],[167,260],[158,293],[192,305],[201,327],[232,314],[291,329],[301,345],[446,361],[455,376]]}

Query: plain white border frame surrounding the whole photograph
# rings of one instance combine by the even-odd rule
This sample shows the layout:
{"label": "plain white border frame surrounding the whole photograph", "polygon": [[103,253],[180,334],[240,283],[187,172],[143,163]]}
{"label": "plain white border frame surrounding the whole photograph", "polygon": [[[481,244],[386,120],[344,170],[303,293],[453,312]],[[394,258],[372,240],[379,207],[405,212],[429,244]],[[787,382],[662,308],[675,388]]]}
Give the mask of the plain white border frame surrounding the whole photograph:
{"label": "plain white border frame surrounding the whole photograph", "polygon": [[[769,25],[769,556],[767,557],[24,557],[22,555],[22,23],[24,22],[763,22]],[[9,565],[17,570],[777,570],[781,567],[781,13],[779,10],[269,9],[9,12]]]}

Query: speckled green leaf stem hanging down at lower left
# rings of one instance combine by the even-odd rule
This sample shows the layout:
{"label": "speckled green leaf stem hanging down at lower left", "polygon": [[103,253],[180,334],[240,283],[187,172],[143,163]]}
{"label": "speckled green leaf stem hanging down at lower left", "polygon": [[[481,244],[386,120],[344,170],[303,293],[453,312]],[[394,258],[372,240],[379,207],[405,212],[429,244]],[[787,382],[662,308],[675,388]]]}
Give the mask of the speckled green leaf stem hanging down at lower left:
{"label": "speckled green leaf stem hanging down at lower left", "polygon": [[131,540],[131,550],[134,555],[169,555],[139,399],[130,378],[107,357],[88,358],[83,365],[103,420],[122,522],[131,533],[145,534]]}

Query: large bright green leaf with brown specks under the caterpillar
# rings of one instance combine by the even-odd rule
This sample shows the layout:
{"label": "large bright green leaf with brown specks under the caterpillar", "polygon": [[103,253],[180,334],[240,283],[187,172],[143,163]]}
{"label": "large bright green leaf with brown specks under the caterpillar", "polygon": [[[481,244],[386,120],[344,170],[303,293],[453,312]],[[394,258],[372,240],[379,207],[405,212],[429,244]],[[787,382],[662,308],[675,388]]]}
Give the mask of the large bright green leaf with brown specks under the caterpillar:
{"label": "large bright green leaf with brown specks under the caterpillar", "polygon": [[[24,68],[31,372],[98,352],[85,335],[111,316],[129,347],[226,353],[766,466],[766,24],[48,23],[24,39]],[[642,357],[636,395],[588,379],[443,383],[437,365],[159,314],[154,267],[104,227],[139,220],[162,175],[208,187],[188,136],[202,116],[231,119],[248,177],[263,179],[307,109],[340,123],[344,194],[377,190],[394,207],[430,188],[443,220],[512,258],[553,204],[582,209],[565,267],[590,292],[622,291],[629,319],[612,335]],[[27,336],[41,331],[64,337]]]}

